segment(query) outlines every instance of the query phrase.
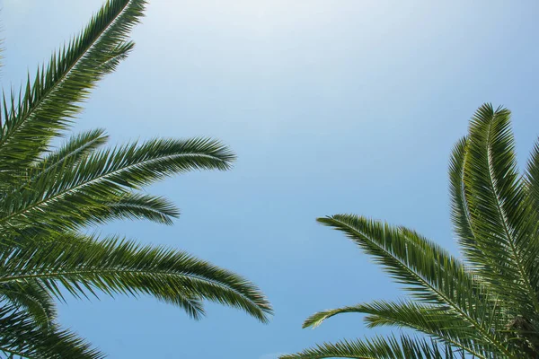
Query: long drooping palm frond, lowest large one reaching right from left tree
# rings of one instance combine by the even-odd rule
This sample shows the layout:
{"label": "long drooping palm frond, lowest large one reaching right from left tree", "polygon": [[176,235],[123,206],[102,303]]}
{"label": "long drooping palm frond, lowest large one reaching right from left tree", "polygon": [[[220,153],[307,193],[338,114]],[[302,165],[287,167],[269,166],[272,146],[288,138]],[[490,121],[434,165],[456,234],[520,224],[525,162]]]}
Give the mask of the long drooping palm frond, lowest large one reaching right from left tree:
{"label": "long drooping palm frond, lowest large one reaching right from left tree", "polygon": [[114,238],[71,235],[0,249],[0,285],[19,281],[37,281],[60,299],[58,285],[75,296],[147,293],[193,318],[203,314],[201,300],[242,309],[263,322],[271,313],[260,290],[241,276],[181,251]]}

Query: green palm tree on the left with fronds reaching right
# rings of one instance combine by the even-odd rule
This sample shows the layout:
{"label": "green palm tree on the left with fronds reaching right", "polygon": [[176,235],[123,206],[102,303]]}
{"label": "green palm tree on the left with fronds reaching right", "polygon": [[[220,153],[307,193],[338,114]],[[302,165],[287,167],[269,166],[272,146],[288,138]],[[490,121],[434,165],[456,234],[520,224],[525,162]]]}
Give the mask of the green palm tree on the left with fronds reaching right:
{"label": "green palm tree on the left with fronds reaching right", "polygon": [[[93,86],[128,56],[144,0],[109,0],[20,92],[4,94],[0,118],[0,354],[101,358],[59,327],[65,294],[149,294],[199,319],[205,300],[265,322],[270,303],[242,276],[179,250],[84,234],[116,219],[172,223],[178,209],[140,190],[193,170],[227,170],[224,144],[206,138],[153,139],[113,148],[103,130],[69,130]],[[56,141],[56,142],[55,142]]]}

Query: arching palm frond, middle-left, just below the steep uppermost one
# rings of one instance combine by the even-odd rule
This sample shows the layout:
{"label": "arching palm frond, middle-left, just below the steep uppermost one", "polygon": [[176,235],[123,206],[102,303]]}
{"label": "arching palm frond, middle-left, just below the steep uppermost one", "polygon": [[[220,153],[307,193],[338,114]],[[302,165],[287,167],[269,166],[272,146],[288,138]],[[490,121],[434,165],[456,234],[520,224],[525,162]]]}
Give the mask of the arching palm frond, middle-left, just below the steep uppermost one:
{"label": "arching palm frond, middle-left, just below the steep uppermost one", "polygon": [[[206,138],[156,139],[94,152],[73,167],[51,169],[30,190],[7,196],[4,203],[10,206],[0,213],[0,227],[13,230],[40,223],[76,229],[95,219],[88,214],[96,207],[127,196],[126,189],[185,171],[227,170],[232,161],[234,153],[225,145]],[[110,211],[118,213],[119,207]]]}

